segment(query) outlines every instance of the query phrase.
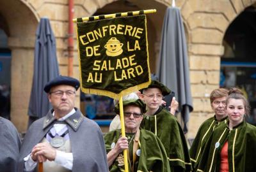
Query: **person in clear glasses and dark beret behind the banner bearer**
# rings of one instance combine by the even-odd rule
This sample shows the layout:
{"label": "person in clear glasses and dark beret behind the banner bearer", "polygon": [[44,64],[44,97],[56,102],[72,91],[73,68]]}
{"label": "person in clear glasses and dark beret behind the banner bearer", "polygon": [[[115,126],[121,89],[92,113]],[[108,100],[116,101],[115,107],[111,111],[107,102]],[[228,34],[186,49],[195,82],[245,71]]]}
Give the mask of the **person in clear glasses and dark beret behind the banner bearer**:
{"label": "person in clear glasses and dark beret behind the banner bearer", "polygon": [[147,105],[147,112],[141,128],[154,133],[164,145],[171,171],[191,171],[188,145],[177,118],[161,106],[163,96],[170,94],[165,85],[152,80],[147,89],[141,90],[141,99]]}

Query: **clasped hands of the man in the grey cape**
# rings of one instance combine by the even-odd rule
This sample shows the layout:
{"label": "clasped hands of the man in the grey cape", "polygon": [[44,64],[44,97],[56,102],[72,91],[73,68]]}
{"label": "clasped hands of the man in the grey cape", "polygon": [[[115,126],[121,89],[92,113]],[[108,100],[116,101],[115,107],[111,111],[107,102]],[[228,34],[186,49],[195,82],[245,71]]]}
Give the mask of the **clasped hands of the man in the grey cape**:
{"label": "clasped hands of the man in the grey cape", "polygon": [[45,162],[46,159],[54,161],[56,149],[52,148],[49,143],[38,143],[31,151],[33,161]]}

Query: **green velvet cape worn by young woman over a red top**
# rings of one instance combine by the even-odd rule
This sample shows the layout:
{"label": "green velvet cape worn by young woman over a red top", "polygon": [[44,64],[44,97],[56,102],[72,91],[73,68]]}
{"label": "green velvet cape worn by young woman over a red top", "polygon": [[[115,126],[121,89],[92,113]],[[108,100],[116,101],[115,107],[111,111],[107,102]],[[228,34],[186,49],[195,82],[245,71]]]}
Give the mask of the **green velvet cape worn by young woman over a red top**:
{"label": "green velvet cape worn by young woman over a red top", "polygon": [[228,129],[220,125],[211,134],[199,162],[197,171],[220,171],[220,152],[228,141],[228,169],[230,172],[256,170],[256,127],[242,122]]}

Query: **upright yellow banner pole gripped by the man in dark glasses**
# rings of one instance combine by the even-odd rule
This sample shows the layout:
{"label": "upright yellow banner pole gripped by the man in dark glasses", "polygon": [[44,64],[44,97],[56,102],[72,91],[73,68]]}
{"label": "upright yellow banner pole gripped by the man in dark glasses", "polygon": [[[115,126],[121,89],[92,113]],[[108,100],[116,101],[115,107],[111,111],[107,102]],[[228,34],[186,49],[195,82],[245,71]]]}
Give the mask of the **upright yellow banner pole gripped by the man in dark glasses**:
{"label": "upright yellow banner pole gripped by the man in dark glasses", "polygon": [[[121,96],[119,99],[119,108],[120,108],[121,133],[122,133],[122,137],[125,137],[123,96]],[[124,150],[124,169],[125,169],[125,172],[128,172],[127,149]]]}

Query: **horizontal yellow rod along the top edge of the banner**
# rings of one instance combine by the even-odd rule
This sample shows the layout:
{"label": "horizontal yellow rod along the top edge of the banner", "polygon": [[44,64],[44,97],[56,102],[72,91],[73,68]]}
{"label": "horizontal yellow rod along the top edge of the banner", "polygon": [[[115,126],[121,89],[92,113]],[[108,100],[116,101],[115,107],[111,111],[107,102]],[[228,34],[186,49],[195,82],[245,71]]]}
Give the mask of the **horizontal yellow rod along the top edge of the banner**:
{"label": "horizontal yellow rod along the top edge of the banner", "polygon": [[[120,16],[121,17],[126,17],[126,16],[129,15],[129,13],[132,13],[132,15],[156,13],[156,9],[124,12],[124,13],[120,13]],[[108,14],[108,15],[102,15],[102,16],[104,16],[104,18],[115,18],[116,17],[116,13]],[[81,19],[83,20],[83,22],[86,22],[86,21],[90,20],[90,18],[93,18],[93,20],[102,19],[102,18],[100,18],[100,15],[95,15],[95,16],[91,16],[91,17],[83,17]],[[77,22],[77,18],[73,18],[73,22],[76,23]]]}

